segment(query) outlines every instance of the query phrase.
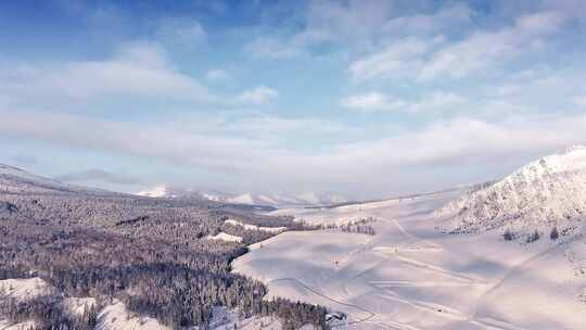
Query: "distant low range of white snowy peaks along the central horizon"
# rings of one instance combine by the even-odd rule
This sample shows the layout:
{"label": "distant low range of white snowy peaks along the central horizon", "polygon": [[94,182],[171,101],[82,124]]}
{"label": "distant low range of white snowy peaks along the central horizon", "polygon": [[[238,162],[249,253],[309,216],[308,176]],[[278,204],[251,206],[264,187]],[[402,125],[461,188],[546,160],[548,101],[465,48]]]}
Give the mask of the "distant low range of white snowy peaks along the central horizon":
{"label": "distant low range of white snowy peaks along the central horizon", "polygon": [[302,193],[293,196],[283,194],[226,193],[218,191],[196,191],[167,186],[157,186],[139,191],[137,194],[150,198],[198,198],[219,203],[263,205],[263,206],[316,206],[343,203],[346,200],[332,194]]}

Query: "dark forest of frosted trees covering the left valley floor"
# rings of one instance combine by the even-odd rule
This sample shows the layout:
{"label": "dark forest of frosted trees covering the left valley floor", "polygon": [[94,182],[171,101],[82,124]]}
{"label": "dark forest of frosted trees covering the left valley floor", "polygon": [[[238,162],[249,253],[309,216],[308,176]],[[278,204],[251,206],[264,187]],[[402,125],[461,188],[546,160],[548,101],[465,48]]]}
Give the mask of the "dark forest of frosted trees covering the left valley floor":
{"label": "dark forest of frosted trees covering the left valley floor", "polygon": [[[0,191],[0,279],[40,277],[56,292],[27,302],[0,299],[0,319],[35,319],[38,329],[93,329],[97,309],[67,316],[66,297],[119,300],[137,315],[173,329],[205,329],[214,306],[244,317],[277,316],[285,329],[326,329],[327,309],[263,300],[258,281],[231,272],[246,245],[273,233],[225,224],[303,227],[225,204],[127,194],[8,189]],[[207,240],[219,231],[241,243]],[[2,293],[0,292],[0,295]]]}

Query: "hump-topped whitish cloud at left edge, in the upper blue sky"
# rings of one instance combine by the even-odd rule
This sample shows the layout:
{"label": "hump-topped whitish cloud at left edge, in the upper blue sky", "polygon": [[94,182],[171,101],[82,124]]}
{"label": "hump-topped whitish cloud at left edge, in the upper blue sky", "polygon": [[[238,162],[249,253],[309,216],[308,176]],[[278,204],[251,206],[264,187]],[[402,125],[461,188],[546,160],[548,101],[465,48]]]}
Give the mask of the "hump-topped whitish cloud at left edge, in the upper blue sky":
{"label": "hump-topped whitish cloud at left edge, in the upper blue sky", "polygon": [[167,97],[208,101],[209,91],[176,71],[154,45],[130,45],[112,59],[0,68],[0,93],[11,101],[88,101],[106,97]]}

